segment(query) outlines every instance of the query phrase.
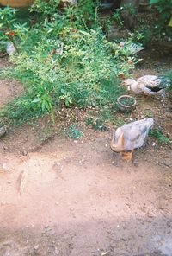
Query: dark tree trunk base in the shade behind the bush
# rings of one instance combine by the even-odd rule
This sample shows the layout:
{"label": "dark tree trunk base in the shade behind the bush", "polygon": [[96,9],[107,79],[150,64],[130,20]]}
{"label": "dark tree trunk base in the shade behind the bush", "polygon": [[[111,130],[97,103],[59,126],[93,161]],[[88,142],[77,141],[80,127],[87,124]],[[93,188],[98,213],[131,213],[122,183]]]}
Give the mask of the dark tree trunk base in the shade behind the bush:
{"label": "dark tree trunk base in the shade behind the bush", "polygon": [[138,12],[140,0],[121,0],[120,7],[125,7],[122,12],[124,24],[127,29],[134,30],[136,24],[136,16]]}

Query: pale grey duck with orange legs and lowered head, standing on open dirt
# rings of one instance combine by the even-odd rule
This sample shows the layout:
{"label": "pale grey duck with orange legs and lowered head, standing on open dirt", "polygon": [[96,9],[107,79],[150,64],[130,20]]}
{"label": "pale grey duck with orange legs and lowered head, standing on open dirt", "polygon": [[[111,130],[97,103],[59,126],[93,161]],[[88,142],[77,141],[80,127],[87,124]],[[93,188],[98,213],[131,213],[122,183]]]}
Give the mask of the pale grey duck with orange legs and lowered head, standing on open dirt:
{"label": "pale grey duck with orange legs and lowered head, standing on open dirt", "polygon": [[111,150],[121,152],[126,161],[132,160],[133,150],[145,145],[153,125],[153,118],[145,118],[119,127],[113,134]]}

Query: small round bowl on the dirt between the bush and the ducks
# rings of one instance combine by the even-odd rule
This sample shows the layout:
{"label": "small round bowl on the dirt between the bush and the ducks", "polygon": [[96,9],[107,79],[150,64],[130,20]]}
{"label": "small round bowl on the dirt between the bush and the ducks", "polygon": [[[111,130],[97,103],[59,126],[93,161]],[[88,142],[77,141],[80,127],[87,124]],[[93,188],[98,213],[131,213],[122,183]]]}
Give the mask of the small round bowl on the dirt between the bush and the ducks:
{"label": "small round bowl on the dirt between the bush and the ducks", "polygon": [[[125,105],[121,102],[122,99],[130,99],[131,100],[131,105]],[[122,95],[117,99],[117,105],[120,109],[121,112],[132,112],[132,110],[135,109],[137,104],[136,99],[134,99],[130,95]]]}

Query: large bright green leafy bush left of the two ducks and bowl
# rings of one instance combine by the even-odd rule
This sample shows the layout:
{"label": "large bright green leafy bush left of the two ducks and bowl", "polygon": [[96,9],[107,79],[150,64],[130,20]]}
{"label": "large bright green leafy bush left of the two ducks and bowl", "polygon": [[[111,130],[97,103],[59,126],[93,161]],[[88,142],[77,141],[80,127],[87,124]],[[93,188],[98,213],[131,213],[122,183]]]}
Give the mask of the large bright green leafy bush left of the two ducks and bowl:
{"label": "large bright green leafy bush left of the two ducks and bowl", "polygon": [[135,67],[137,46],[132,37],[122,47],[107,42],[97,22],[91,29],[85,27],[85,18],[83,24],[72,21],[66,12],[54,14],[53,8],[42,10],[51,13],[50,20],[43,18],[32,28],[13,24],[19,54],[10,58],[15,67],[6,75],[22,81],[25,93],[6,107],[4,115],[16,122],[46,112],[52,113],[54,122],[59,106],[86,108],[114,102],[125,90],[119,77]]}

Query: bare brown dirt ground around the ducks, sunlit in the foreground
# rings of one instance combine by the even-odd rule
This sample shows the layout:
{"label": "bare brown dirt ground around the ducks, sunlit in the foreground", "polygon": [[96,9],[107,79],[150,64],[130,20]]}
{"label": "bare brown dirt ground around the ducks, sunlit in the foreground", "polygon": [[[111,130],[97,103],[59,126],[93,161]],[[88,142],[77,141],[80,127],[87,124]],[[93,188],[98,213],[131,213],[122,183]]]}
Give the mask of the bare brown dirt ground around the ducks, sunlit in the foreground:
{"label": "bare brown dirt ground around the ducks, sunlit in the foreground", "polygon": [[[155,61],[149,55],[135,77],[170,68],[169,56]],[[13,80],[0,88],[1,106],[22,92]],[[141,101],[128,118],[151,112],[171,139],[171,108],[168,95]],[[0,255],[171,256],[169,145],[149,138],[125,163],[109,148],[111,127],[83,127],[78,141],[60,131],[43,140],[46,124],[45,118],[41,126],[11,128],[0,141]]]}

